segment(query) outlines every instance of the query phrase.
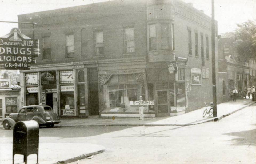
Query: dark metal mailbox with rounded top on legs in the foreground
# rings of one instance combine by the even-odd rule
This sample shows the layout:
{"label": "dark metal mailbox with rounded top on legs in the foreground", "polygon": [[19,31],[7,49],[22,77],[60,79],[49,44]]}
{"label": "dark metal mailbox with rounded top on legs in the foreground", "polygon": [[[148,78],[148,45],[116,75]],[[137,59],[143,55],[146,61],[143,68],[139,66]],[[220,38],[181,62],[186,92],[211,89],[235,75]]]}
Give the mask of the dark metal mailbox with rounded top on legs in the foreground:
{"label": "dark metal mailbox with rounded top on legs in the foreground", "polygon": [[36,121],[19,121],[13,127],[13,164],[14,155],[24,156],[27,164],[27,156],[37,154],[38,163],[39,125]]}

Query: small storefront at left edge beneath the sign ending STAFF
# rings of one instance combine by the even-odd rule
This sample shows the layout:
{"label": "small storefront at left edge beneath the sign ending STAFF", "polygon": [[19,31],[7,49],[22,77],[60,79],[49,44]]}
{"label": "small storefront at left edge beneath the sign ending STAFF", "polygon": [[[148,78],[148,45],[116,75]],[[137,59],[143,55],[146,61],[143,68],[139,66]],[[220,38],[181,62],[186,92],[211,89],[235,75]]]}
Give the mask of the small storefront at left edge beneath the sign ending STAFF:
{"label": "small storefront at left edge beneath the sign ending STAFF", "polygon": [[10,113],[17,113],[21,87],[10,84],[10,79],[0,79],[0,120]]}

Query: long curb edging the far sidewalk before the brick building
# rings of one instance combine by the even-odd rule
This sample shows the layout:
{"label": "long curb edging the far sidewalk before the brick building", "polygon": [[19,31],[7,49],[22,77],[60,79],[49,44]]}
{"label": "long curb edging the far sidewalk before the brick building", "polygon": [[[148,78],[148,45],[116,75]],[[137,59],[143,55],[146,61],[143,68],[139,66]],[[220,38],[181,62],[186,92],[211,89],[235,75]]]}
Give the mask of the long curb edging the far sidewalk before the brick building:
{"label": "long curb edging the far sidewalk before the brick building", "polygon": [[194,124],[104,124],[104,125],[64,125],[64,126],[55,126],[56,128],[64,128],[64,127],[95,127],[95,126],[189,126],[189,125],[197,125],[197,124],[202,124],[202,123],[206,123],[206,122],[211,122],[211,121],[214,121],[214,120],[221,120],[222,118],[226,117],[226,116],[229,116],[239,110],[242,110],[248,106],[251,106],[253,105],[254,103],[256,102],[249,102],[247,104],[245,104],[245,106],[235,110],[235,111],[232,111],[228,114],[225,114],[225,115],[222,115],[220,117],[213,117],[209,120],[205,120],[203,122],[199,122],[199,123],[194,123]]}

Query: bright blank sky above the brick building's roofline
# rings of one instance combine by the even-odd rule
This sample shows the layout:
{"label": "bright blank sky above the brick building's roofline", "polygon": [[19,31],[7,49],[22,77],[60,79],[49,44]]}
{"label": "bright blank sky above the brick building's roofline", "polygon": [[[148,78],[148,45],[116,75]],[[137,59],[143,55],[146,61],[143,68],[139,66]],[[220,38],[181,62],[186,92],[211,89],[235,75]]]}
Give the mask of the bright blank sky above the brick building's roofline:
{"label": "bright blank sky above the brick building's roofline", "polygon": [[[109,0],[0,0],[0,21],[18,21],[19,14],[86,5],[93,1],[98,3]],[[193,7],[211,16],[211,0],[183,1],[193,3]],[[218,21],[219,34],[234,31],[237,23],[248,19],[256,21],[256,0],[215,0],[215,20]],[[0,22],[0,37],[14,27],[18,27],[18,24]]]}

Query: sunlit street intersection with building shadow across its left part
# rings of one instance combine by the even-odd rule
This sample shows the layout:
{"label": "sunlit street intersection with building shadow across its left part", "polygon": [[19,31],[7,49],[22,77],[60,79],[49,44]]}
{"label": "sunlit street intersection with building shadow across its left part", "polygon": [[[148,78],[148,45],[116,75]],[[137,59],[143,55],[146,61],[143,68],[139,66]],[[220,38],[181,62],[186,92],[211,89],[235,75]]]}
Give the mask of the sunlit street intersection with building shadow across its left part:
{"label": "sunlit street intersection with building shadow across its left part", "polygon": [[[0,129],[0,143],[11,144],[12,132]],[[242,109],[219,122],[191,126],[41,128],[39,136],[40,143],[91,143],[106,148],[105,152],[91,159],[72,164],[250,164],[255,163],[256,155],[256,105]]]}

